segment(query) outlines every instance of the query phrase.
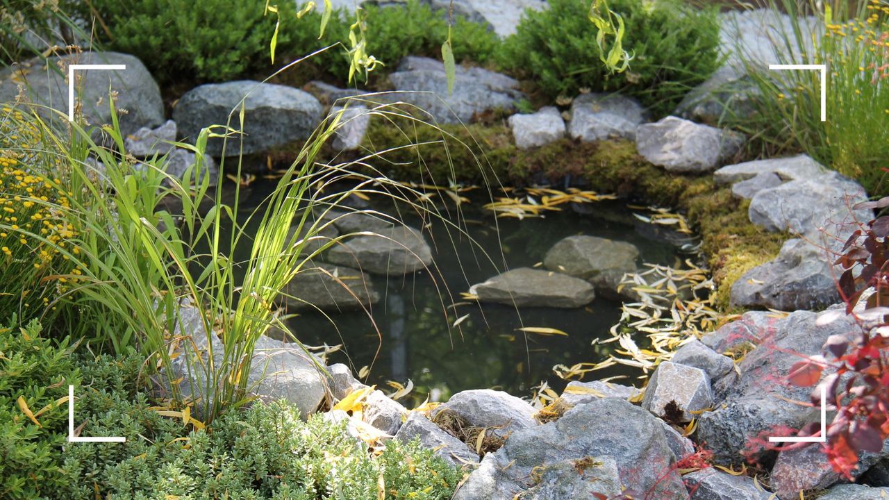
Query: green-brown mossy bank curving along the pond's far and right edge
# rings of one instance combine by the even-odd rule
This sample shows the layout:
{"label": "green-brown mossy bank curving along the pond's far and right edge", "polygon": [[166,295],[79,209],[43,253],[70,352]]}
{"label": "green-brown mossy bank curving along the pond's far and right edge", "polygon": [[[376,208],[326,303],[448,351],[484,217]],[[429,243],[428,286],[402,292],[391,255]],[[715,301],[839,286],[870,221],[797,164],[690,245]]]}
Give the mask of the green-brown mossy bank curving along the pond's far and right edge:
{"label": "green-brown mossy bank curving along the pond's far and right edge", "polygon": [[[405,147],[408,144],[413,146]],[[728,311],[729,291],[747,270],[773,259],[787,235],[767,232],[748,218],[747,201],[717,187],[710,175],[667,173],[640,157],[633,141],[582,143],[562,139],[517,149],[509,127],[372,123],[365,144],[389,150],[376,166],[394,179],[436,184],[487,182],[523,185],[564,182],[682,211],[701,236],[717,283],[717,306]]]}

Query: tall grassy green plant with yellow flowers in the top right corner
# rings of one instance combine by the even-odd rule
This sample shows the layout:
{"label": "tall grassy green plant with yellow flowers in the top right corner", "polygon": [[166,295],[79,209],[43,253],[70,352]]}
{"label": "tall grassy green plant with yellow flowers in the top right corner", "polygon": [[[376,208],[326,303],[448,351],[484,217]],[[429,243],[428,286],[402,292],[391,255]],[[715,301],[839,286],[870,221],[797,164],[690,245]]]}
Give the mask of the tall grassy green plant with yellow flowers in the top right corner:
{"label": "tall grassy green plant with yellow flowers in the top right corner", "polygon": [[[768,151],[803,150],[861,182],[870,194],[885,193],[883,158],[889,153],[889,7],[878,0],[831,10],[809,2],[773,2],[789,13],[789,26],[773,34],[782,64],[827,64],[828,119],[821,121],[821,82],[815,71],[769,71],[741,49],[752,77],[754,113],[730,118],[753,133]],[[808,13],[809,15],[805,15]]]}

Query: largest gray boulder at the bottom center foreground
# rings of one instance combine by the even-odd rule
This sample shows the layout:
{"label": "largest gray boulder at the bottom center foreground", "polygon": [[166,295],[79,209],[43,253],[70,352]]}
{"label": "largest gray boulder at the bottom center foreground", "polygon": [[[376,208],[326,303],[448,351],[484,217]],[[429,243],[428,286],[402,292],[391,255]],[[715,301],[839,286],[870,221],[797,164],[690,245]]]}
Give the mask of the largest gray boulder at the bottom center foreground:
{"label": "largest gray boulder at the bottom center foreground", "polygon": [[[608,475],[594,467],[605,466],[607,470],[612,461],[619,479],[601,480],[602,475]],[[688,498],[658,419],[627,401],[606,398],[573,407],[556,422],[513,433],[502,448],[485,456],[457,490],[454,500],[511,500],[533,488],[529,484],[532,471],[544,473],[548,469],[556,478],[547,484],[567,483],[576,488],[571,474],[579,472],[576,468],[569,471],[564,464],[572,468],[586,465],[583,476],[593,486],[603,488],[597,492],[608,497],[613,497],[610,492],[616,486],[626,488],[618,491],[627,496]],[[618,481],[620,484],[615,484]],[[545,494],[540,489],[532,493]]]}

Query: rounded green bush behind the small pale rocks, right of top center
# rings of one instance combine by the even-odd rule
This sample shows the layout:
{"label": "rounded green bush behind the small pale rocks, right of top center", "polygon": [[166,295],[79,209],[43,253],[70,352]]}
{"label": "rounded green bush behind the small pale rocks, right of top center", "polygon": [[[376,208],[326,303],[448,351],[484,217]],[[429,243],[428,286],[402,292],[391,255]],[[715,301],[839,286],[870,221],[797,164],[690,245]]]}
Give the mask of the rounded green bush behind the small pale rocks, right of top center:
{"label": "rounded green bush behind the small pale rocks, right of top center", "polygon": [[623,46],[634,56],[629,69],[611,73],[599,60],[596,30],[586,0],[552,0],[549,9],[527,15],[503,44],[501,66],[533,80],[555,100],[581,88],[636,97],[654,115],[675,109],[688,89],[719,63],[719,24],[712,8],[677,0],[610,0],[626,23]]}

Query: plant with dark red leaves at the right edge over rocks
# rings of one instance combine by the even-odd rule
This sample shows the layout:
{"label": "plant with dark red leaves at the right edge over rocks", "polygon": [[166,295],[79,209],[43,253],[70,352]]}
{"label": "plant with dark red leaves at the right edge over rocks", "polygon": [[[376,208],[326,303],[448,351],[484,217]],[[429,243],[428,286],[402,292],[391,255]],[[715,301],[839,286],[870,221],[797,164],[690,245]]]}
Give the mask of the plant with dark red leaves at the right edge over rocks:
{"label": "plant with dark red leaves at the right edge over rocks", "polygon": [[[883,209],[889,197],[853,206],[853,209]],[[837,254],[836,265],[843,273],[838,281],[845,310],[829,311],[820,324],[852,314],[860,328],[847,335],[831,335],[824,343],[824,356],[794,364],[789,382],[816,385],[812,401],[821,406],[825,388],[829,409],[837,414],[827,427],[823,447],[835,471],[852,479],[863,452],[878,453],[889,437],[889,215],[878,216],[846,240]],[[828,360],[828,358],[830,360]],[[828,375],[821,380],[821,375]],[[821,383],[819,381],[821,380]],[[814,435],[821,423],[800,431]]]}

